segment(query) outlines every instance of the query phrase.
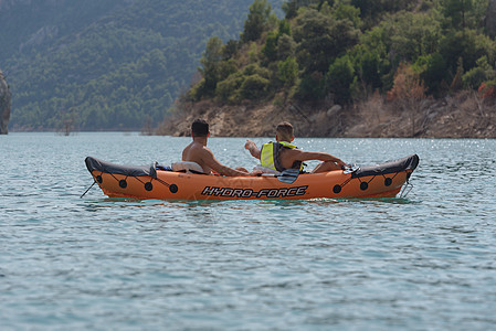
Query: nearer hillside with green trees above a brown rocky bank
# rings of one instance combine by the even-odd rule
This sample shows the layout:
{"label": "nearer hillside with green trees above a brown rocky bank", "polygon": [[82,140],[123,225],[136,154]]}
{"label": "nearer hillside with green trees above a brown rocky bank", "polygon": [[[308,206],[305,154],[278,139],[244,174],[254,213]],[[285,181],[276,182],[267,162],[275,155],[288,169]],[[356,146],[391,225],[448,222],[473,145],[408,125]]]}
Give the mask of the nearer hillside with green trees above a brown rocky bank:
{"label": "nearer hillside with green trees above a brown rocky bank", "polygon": [[288,119],[303,136],[496,137],[496,1],[374,3],[291,0],[277,20],[255,0],[236,42],[208,42],[159,134],[201,116],[221,136]]}

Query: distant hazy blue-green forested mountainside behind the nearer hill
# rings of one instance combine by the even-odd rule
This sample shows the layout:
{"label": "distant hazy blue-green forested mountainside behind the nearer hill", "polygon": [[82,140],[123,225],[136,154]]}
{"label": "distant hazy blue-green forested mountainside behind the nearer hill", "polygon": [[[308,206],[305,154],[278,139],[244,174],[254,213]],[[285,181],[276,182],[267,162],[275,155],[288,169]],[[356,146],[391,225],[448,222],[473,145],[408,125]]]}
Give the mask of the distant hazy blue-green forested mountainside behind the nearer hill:
{"label": "distant hazy blue-green forested mountainside behind the nearer hill", "polygon": [[251,2],[0,0],[10,130],[161,121],[191,84],[208,39],[239,38]]}

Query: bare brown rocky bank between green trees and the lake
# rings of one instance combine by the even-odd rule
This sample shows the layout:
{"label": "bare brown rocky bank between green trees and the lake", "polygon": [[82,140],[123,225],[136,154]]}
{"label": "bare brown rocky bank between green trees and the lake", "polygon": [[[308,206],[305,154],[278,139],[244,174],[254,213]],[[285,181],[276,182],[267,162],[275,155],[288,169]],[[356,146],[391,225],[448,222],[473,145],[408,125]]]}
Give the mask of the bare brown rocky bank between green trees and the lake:
{"label": "bare brown rocky bank between green trees and the lake", "polygon": [[157,134],[189,136],[196,118],[209,121],[217,137],[273,137],[275,126],[287,120],[297,137],[496,138],[496,99],[468,90],[409,107],[379,95],[348,107],[201,102],[179,105],[177,117],[166,120]]}

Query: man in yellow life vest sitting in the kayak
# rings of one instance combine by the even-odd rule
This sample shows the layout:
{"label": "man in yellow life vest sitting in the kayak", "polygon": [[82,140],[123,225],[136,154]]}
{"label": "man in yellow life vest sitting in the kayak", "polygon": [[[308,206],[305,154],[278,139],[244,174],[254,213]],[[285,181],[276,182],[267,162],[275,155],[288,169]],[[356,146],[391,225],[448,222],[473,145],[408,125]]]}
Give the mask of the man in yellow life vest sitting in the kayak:
{"label": "man in yellow life vest sitting in the kayak", "polygon": [[255,142],[246,140],[244,148],[250,153],[260,159],[262,167],[272,170],[283,171],[285,169],[295,168],[303,169],[303,161],[319,160],[324,161],[318,164],[312,173],[325,172],[330,170],[339,170],[348,167],[340,159],[324,152],[303,151],[291,142],[295,139],[293,126],[287,122],[281,122],[276,128],[275,140],[277,142],[267,142],[257,148]]}

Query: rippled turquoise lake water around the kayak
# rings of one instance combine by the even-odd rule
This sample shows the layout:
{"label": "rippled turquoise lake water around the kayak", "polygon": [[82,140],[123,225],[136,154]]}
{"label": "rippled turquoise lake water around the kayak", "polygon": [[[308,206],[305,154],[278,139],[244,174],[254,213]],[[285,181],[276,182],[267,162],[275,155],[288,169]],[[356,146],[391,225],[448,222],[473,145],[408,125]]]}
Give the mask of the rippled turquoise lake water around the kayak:
{"label": "rippled turquoise lake water around the kayak", "polygon": [[[418,153],[404,199],[80,199],[85,157],[170,163],[189,141],[0,136],[0,329],[496,329],[496,140],[295,140],[362,166]],[[244,141],[209,147],[251,169]]]}

